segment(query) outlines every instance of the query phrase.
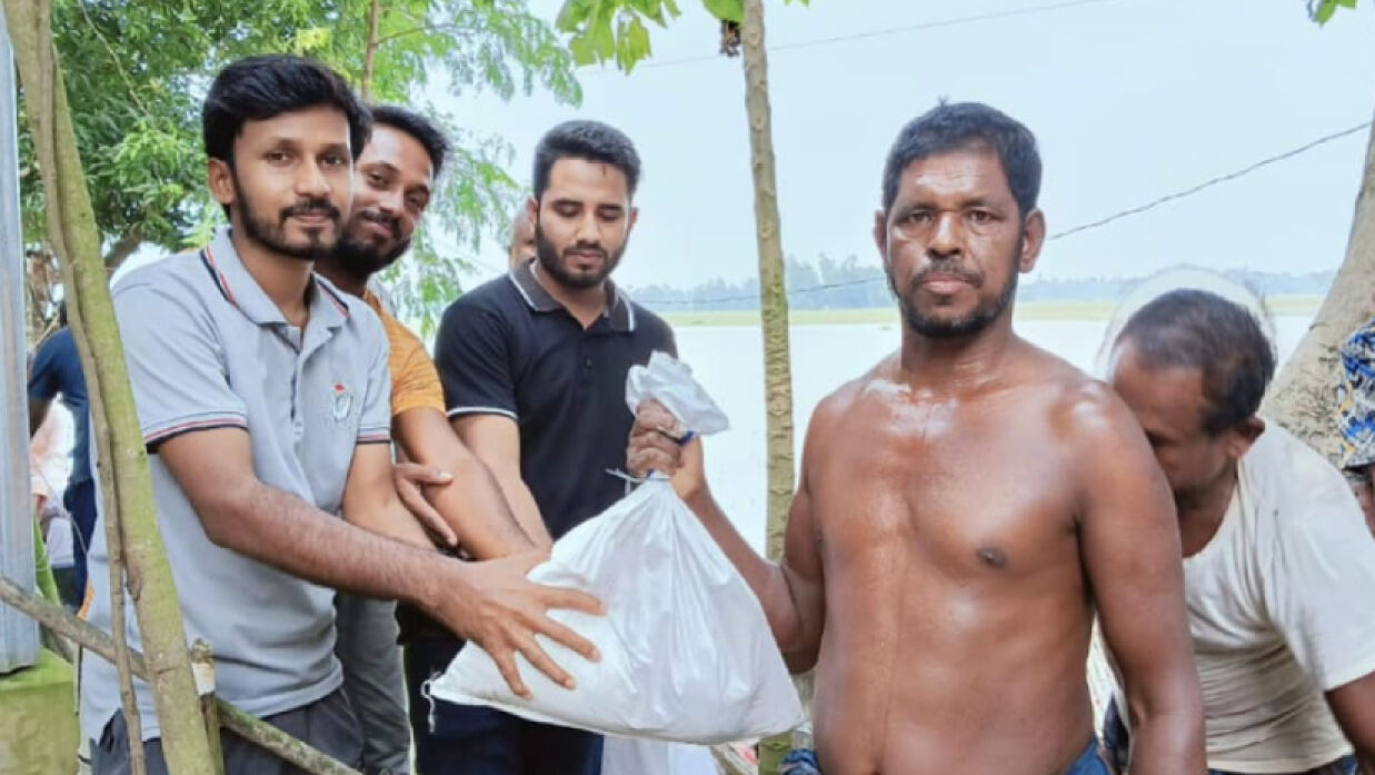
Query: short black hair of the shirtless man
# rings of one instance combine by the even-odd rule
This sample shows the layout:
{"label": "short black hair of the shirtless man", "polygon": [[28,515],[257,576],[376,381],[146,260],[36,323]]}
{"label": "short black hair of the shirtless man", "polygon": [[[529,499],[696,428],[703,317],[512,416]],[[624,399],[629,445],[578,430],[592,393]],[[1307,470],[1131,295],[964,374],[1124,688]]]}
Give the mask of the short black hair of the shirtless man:
{"label": "short black hair of the shirtless man", "polygon": [[883,168],[884,212],[898,198],[902,171],[909,164],[971,147],[986,147],[998,154],[1008,189],[1023,217],[1035,209],[1041,195],[1041,151],[1031,129],[980,102],[942,102],[903,127],[888,150]]}

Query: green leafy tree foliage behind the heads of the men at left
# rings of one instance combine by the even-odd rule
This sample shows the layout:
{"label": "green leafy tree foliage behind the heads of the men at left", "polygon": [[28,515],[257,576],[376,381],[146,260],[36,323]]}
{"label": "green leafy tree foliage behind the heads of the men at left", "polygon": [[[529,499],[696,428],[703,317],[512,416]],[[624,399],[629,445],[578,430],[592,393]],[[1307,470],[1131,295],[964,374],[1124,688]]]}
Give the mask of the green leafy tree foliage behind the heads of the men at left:
{"label": "green leafy tree foliage behind the heads of the men at left", "polygon": [[[535,88],[565,103],[582,99],[571,54],[524,0],[54,0],[52,14],[111,268],[142,242],[175,251],[204,241],[221,217],[205,189],[199,109],[214,73],[234,59],[314,56],[374,102],[436,118],[454,153],[430,226],[392,278],[402,314],[422,329],[459,292],[456,275],[484,235],[505,231],[520,197],[507,172],[510,147],[465,131],[436,102],[474,92],[509,99]],[[41,235],[43,187],[26,134],[21,171],[25,234]],[[456,251],[440,251],[436,231],[456,235]]]}

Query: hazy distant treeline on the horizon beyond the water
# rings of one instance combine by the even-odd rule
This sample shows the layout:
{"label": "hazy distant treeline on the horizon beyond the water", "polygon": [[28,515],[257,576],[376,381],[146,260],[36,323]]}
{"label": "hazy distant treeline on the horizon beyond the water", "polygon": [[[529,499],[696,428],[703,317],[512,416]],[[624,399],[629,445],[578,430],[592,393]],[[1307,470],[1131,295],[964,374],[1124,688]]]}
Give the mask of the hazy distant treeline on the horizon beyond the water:
{"label": "hazy distant treeline on the horizon beyond the water", "polygon": [[[883,270],[855,256],[837,262],[821,256],[815,264],[786,259],[788,301],[793,310],[865,310],[892,303]],[[1306,274],[1224,271],[1264,296],[1321,296],[1332,284],[1331,271]],[[1079,279],[1023,279],[1018,299],[1026,301],[1114,301],[1141,278],[1089,277]],[[693,288],[646,285],[628,289],[652,310],[758,310],[759,281],[726,282],[714,278]]]}

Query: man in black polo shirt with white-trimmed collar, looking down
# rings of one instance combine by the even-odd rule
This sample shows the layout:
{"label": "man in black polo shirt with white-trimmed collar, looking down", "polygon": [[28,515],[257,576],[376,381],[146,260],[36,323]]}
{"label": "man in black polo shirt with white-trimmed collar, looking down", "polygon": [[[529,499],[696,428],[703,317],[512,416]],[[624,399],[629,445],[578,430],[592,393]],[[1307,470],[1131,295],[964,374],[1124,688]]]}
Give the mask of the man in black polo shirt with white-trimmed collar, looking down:
{"label": "man in black polo shirt with white-trimmed collar, looking down", "polygon": [[[434,363],[455,431],[491,468],[521,527],[549,545],[626,493],[626,373],[672,330],[608,279],[635,224],[639,157],[617,129],[569,121],[535,151],[536,257],[446,312]],[[421,775],[597,775],[602,739],[487,708],[418,701],[419,684],[459,644],[411,624],[411,687]],[[433,727],[430,725],[433,721]]]}

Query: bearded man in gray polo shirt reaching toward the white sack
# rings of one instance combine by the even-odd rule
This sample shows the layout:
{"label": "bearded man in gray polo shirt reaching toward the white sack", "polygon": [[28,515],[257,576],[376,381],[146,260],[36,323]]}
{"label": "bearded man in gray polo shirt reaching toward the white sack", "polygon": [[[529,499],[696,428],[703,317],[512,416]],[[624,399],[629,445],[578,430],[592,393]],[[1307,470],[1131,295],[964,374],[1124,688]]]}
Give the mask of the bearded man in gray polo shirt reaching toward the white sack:
{"label": "bearded man in gray polo shirt reaching toward the white sack", "polygon": [[[595,654],[544,610],[598,608],[525,581],[538,556],[444,558],[396,497],[381,322],[311,271],[338,237],[368,124],[348,85],[314,62],[226,67],[204,128],[230,227],[114,292],[188,640],[214,650],[220,697],[351,764],[360,741],[340,692],[329,588],[422,606],[490,651],[517,691],[517,650],[566,681],[535,632]],[[103,537],[91,553],[91,621],[109,628]],[[133,617],[126,629],[138,647]],[[165,774],[151,695],[142,683],[136,694],[148,772]],[[110,665],[84,663],[81,716],[92,772],[128,772]],[[297,772],[228,732],[223,747],[227,775]]]}

